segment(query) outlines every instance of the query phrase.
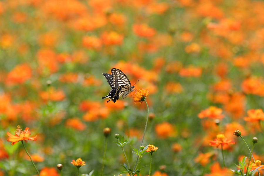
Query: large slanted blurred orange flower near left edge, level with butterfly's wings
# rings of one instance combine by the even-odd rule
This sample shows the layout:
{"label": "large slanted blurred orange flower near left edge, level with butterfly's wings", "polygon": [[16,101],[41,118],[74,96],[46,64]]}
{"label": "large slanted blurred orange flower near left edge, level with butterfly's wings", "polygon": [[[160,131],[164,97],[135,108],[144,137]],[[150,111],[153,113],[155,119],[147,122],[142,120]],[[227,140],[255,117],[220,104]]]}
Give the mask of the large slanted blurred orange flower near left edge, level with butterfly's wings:
{"label": "large slanted blurred orange flower near left edge, level with butterfly's wings", "polygon": [[32,69],[28,64],[16,65],[16,67],[8,73],[6,84],[23,84],[32,77]]}

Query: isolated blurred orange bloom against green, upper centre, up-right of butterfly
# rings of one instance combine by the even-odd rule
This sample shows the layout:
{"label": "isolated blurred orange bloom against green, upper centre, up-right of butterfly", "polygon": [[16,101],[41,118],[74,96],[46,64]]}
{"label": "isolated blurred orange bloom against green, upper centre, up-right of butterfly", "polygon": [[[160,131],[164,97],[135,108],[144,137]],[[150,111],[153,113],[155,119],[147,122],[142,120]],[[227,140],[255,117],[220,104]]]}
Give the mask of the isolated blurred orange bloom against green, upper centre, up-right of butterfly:
{"label": "isolated blurred orange bloom against green, upper centre, up-right of butterfly", "polygon": [[139,37],[153,37],[156,34],[154,28],[148,27],[147,24],[134,24],[133,25],[134,33]]}

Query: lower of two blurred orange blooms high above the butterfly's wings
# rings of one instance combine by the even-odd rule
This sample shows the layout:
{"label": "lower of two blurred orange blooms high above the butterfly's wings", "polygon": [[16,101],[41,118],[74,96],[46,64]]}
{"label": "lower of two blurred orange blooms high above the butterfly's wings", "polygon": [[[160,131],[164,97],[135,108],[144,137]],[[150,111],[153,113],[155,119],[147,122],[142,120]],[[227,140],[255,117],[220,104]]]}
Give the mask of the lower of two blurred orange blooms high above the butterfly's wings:
{"label": "lower of two blurred orange blooms high above the butterfly's wings", "polygon": [[101,35],[102,42],[104,45],[121,45],[123,43],[123,35],[118,34],[117,32],[104,32]]}

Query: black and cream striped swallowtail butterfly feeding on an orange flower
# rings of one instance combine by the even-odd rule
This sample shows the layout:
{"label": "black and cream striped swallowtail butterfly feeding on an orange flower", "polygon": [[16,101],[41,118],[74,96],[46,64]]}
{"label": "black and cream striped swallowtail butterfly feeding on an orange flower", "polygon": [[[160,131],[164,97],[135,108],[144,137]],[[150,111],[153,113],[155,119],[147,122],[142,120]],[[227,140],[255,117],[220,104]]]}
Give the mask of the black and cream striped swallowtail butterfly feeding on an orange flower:
{"label": "black and cream striped swallowtail butterfly feeding on an orange flower", "polygon": [[112,68],[111,72],[112,75],[108,73],[103,73],[104,77],[106,78],[108,84],[112,89],[109,91],[108,95],[102,97],[102,99],[110,98],[110,100],[115,103],[116,100],[118,100],[121,96],[122,99],[126,98],[129,93],[134,91],[133,89],[135,86],[131,86],[129,79],[121,70],[117,68]]}

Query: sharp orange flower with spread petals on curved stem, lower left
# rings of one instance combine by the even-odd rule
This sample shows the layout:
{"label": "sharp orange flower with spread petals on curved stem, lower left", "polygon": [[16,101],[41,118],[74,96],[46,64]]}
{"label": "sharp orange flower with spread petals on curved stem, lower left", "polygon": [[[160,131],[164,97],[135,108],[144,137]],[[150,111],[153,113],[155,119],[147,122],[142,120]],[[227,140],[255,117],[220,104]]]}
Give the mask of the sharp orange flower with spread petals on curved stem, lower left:
{"label": "sharp orange flower with spread petals on curved stem, lower left", "polygon": [[36,141],[37,140],[37,136],[30,138],[28,137],[30,135],[30,131],[29,128],[27,127],[24,131],[22,131],[22,129],[20,129],[20,126],[17,126],[17,129],[15,131],[15,136],[12,135],[11,133],[7,132],[7,136],[9,136],[9,138],[7,139],[7,141],[12,142],[12,145],[18,143],[18,141],[25,141],[26,140],[33,140]]}

